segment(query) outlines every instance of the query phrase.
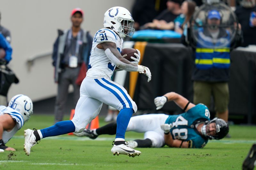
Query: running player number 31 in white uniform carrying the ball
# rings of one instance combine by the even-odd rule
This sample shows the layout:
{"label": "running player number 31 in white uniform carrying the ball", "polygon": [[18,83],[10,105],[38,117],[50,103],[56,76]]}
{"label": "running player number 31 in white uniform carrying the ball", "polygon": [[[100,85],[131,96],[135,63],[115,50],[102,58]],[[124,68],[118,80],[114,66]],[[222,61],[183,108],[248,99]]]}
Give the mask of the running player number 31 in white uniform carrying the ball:
{"label": "running player number 31 in white uniform carrying the ball", "polygon": [[99,114],[102,103],[120,111],[117,116],[116,139],[111,152],[114,155],[125,154],[132,157],[140,155],[140,151],[129,147],[124,141],[125,130],[132,114],[137,111],[137,106],[124,87],[111,81],[116,67],[126,71],[138,71],[148,77],[148,82],[151,80],[150,70],[138,65],[139,51],[133,63],[120,54],[123,39],[126,36],[132,37],[134,33],[133,23],[131,13],[123,7],[113,7],[106,11],[104,28],[94,35],[88,71],[80,87],[80,98],[73,119],[57,122],[41,130],[25,130],[24,151],[27,155],[30,154],[30,149],[36,141],[44,137],[82,132],[85,126]]}

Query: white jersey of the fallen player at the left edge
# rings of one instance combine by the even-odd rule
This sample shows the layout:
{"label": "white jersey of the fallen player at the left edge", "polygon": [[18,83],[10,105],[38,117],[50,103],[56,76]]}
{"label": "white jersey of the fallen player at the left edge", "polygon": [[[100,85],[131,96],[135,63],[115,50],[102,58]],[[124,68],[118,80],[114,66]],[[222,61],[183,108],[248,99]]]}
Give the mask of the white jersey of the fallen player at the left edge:
{"label": "white jersey of the fallen player at the left edge", "polygon": [[16,126],[11,131],[4,130],[3,132],[3,141],[6,144],[13,135],[24,125],[24,120],[22,115],[17,110],[12,109],[11,107],[0,106],[0,115],[8,114],[16,122]]}

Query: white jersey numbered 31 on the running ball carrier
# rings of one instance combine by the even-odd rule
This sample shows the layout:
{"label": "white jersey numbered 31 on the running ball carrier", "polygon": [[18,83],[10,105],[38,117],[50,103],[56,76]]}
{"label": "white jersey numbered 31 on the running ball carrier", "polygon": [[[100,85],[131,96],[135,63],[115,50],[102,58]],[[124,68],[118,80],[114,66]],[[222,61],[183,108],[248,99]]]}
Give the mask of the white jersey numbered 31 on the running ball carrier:
{"label": "white jersey numbered 31 on the running ball carrier", "polygon": [[111,29],[102,28],[97,31],[92,41],[92,50],[89,57],[88,71],[86,73],[87,78],[111,79],[113,75],[116,66],[108,59],[104,49],[97,48],[97,45],[103,42],[114,42],[116,49],[121,53],[124,40]]}

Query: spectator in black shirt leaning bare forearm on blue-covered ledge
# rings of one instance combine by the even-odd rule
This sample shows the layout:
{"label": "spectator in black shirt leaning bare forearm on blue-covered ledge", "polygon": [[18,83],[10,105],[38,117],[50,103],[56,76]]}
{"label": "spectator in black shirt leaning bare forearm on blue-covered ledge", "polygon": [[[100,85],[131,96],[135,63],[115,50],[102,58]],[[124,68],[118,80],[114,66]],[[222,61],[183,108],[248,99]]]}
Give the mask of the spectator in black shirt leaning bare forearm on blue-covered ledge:
{"label": "spectator in black shirt leaning bare forearm on blue-covered ledge", "polygon": [[144,28],[173,29],[173,21],[180,15],[181,0],[168,0],[167,9],[161,12],[153,22],[145,24]]}

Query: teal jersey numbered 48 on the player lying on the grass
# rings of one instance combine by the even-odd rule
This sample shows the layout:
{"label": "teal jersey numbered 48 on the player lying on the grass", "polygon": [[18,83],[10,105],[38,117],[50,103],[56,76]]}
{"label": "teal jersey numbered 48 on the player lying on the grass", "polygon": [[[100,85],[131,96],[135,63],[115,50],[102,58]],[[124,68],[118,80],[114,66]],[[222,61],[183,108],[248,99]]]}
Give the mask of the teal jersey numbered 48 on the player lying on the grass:
{"label": "teal jersey numbered 48 on the player lying on the grass", "polygon": [[204,104],[198,104],[192,107],[187,112],[180,115],[170,115],[165,123],[171,124],[170,129],[173,139],[180,139],[184,141],[193,141],[193,148],[203,148],[207,144],[208,139],[203,138],[198,134],[197,130],[194,129],[195,121],[205,122],[210,120],[209,109]]}

